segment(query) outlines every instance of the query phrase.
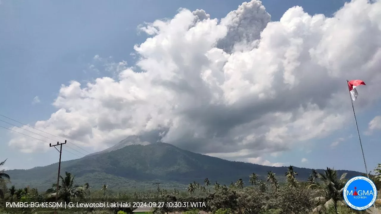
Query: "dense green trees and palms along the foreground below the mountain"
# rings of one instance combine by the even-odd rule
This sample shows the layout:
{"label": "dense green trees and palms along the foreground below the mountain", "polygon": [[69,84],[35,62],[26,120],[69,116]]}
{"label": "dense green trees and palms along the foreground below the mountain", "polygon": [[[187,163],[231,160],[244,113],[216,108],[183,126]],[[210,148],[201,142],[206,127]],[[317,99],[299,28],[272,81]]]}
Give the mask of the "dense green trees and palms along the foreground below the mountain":
{"label": "dense green trees and palms along the foreground below the mountain", "polygon": [[[2,166],[5,161],[0,164]],[[197,214],[200,211],[214,214],[364,214],[375,213],[368,210],[354,211],[343,202],[343,187],[347,182],[347,174],[338,174],[338,171],[327,168],[322,173],[312,169],[306,182],[298,180],[296,168],[289,166],[282,176],[268,171],[264,179],[253,172],[243,178],[231,182],[230,185],[212,184],[209,178],[202,183],[196,181],[188,184],[186,191],[177,189],[168,190],[158,188],[155,191],[141,191],[134,193],[119,192],[111,194],[108,185],[102,184],[91,187],[88,183],[76,185],[76,177],[70,172],[61,176],[59,192],[56,194],[56,185],[46,191],[38,192],[35,188],[25,187],[16,189],[10,186],[10,177],[0,169],[0,214],[47,214],[53,213],[48,208],[6,208],[6,202],[115,202],[115,201],[142,201],[142,202],[200,202],[197,208],[162,208],[154,209],[154,213],[183,212]],[[381,164],[371,176],[378,190],[381,187]],[[245,184],[248,180],[248,185]],[[376,201],[381,205],[381,199]],[[76,214],[127,214],[131,208],[81,208],[58,209],[58,213]],[[380,212],[381,209],[378,211]]]}

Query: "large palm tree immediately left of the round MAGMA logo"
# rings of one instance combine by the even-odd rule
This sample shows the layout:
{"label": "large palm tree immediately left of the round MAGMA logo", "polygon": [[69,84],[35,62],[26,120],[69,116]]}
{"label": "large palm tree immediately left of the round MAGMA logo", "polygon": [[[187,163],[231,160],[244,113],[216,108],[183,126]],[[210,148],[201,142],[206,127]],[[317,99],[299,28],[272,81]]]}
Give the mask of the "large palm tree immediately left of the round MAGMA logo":
{"label": "large palm tree immediately left of the round MAGMA logo", "polygon": [[319,204],[314,209],[314,212],[323,209],[323,206],[325,208],[333,206],[337,213],[337,207],[345,204],[343,202],[343,191],[347,182],[346,176],[347,173],[343,173],[339,178],[337,171],[328,167],[327,170],[324,170],[324,173],[318,174],[322,182],[320,191],[323,192],[324,196],[314,198],[314,201]]}

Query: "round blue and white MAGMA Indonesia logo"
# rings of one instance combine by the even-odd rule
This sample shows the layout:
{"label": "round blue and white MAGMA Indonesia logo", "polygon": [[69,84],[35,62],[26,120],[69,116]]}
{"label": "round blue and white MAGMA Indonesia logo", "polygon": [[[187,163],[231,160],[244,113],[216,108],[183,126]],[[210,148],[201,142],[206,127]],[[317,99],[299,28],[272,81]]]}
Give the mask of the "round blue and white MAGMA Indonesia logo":
{"label": "round blue and white MAGMA Indonesia logo", "polygon": [[368,209],[376,201],[376,185],[367,177],[357,176],[345,184],[343,196],[345,202],[352,209]]}

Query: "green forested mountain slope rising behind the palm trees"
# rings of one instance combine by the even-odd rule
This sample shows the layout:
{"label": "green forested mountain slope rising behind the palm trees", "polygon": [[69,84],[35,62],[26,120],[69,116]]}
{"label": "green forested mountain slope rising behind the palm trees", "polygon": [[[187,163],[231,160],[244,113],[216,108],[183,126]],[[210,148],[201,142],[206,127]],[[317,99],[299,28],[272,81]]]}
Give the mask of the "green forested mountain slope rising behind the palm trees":
{"label": "green forested mountain slope rising behind the palm trees", "polygon": [[[43,191],[56,181],[58,163],[33,169],[7,171],[16,187],[36,187]],[[208,177],[212,183],[229,184],[242,178],[248,184],[253,172],[265,179],[267,171],[273,171],[282,182],[287,167],[262,166],[258,164],[227,161],[179,149],[170,144],[128,145],[121,149],[101,152],[77,160],[61,163],[61,174],[74,174],[77,184],[88,182],[94,188],[102,184],[110,190],[155,189],[153,182],[165,188],[185,188],[190,182],[203,183]],[[295,168],[299,180],[306,180],[311,169]],[[347,172],[347,177],[362,174]]]}

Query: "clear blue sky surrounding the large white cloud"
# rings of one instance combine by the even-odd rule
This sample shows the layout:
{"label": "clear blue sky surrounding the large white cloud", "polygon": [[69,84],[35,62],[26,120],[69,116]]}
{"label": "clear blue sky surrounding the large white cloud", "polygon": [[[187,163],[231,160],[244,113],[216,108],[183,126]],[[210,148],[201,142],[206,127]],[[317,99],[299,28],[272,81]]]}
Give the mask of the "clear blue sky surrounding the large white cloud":
{"label": "clear blue sky surrounding the large white cloud", "polygon": [[[303,7],[304,11],[310,15],[322,13],[329,17],[344,6],[344,1],[341,0],[323,0],[319,3],[303,0],[264,0],[262,3],[267,13],[271,14],[271,21],[279,21],[289,8],[296,5]],[[75,80],[85,86],[87,81],[93,81],[98,77],[114,77],[107,68],[114,66],[112,68],[115,69],[117,62],[126,61],[128,67],[138,61],[137,57],[131,56],[134,45],[141,44],[150,37],[143,32],[138,32],[137,27],[140,24],[154,22],[156,19],[171,19],[178,13],[179,8],[187,8],[190,11],[203,9],[210,14],[211,18],[221,19],[241,4],[242,1],[237,0],[223,3],[218,0],[114,2],[2,0],[0,4],[0,26],[2,26],[0,27],[0,90],[2,91],[0,114],[31,126],[34,126],[36,121],[49,120],[51,114],[58,110],[52,103],[59,96],[62,84],[67,86],[70,81]],[[94,58],[96,55],[99,58]],[[345,80],[351,77],[356,78],[353,75],[343,78],[342,88],[346,89]],[[362,76],[359,75],[360,77]],[[368,130],[370,121],[377,115],[381,115],[381,103],[379,97],[371,101],[363,100],[369,92],[368,89],[364,89],[365,87],[367,86],[359,89],[360,95],[355,102],[355,108],[358,109],[357,118],[368,169],[373,169],[377,163],[380,163],[378,153],[381,149],[380,131],[373,131],[370,135],[365,135],[364,132]],[[38,99],[34,99],[36,96]],[[347,103],[343,108],[351,112],[349,97],[346,98]],[[347,117],[351,117],[348,119],[349,123],[338,130],[327,132],[327,136],[322,139],[319,137],[306,139],[304,143],[279,152],[280,155],[272,150],[272,152],[263,153],[260,158],[258,155],[253,156],[252,158],[257,158],[253,162],[265,164],[267,161],[270,164],[283,163],[306,168],[329,166],[336,169],[364,171],[353,115],[349,114]],[[4,117],[0,119],[21,126]],[[2,121],[0,125],[6,128],[12,127]],[[48,130],[50,129],[46,129],[50,133]],[[1,159],[8,158],[6,167],[9,169],[26,169],[58,161],[58,153],[52,148],[45,153],[21,152],[19,147],[8,145],[8,142],[14,139],[14,133],[10,134],[8,130],[1,128],[0,134],[2,136],[0,157]],[[48,136],[44,133],[42,135]],[[61,141],[61,139],[58,140]],[[331,146],[334,142],[338,142],[336,147]],[[20,143],[27,145],[30,142]],[[43,144],[43,142],[40,143]],[[82,151],[74,145],[70,147]],[[101,148],[82,147],[89,152]],[[189,149],[186,145],[183,148]],[[83,156],[70,148],[67,150],[80,157]],[[195,150],[195,152],[200,151]],[[214,152],[205,150],[204,153]],[[221,157],[221,155],[217,156]],[[247,159],[250,158],[249,156],[243,159],[239,156],[227,159],[254,160]],[[62,155],[63,160],[73,158],[78,157],[65,152]],[[303,158],[306,160],[301,161]],[[261,161],[258,162],[259,159]]]}

